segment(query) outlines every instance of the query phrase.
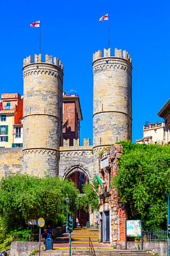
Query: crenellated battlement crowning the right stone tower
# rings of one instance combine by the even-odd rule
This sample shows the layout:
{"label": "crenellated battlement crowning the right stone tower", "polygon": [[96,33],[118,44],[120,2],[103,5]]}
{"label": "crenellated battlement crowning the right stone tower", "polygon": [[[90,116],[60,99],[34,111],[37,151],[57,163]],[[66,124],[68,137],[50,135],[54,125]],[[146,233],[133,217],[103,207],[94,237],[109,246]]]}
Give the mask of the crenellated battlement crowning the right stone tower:
{"label": "crenellated battlement crowning the right stone tower", "polygon": [[[127,51],[122,51],[122,49],[118,50],[117,48],[115,48],[115,51],[114,51],[114,56],[111,56],[111,49],[109,48],[108,50],[104,49],[104,56],[103,57],[120,57],[120,58],[123,58],[125,60],[129,60],[129,62],[132,64],[132,61],[131,61],[131,57],[129,55],[129,53],[127,53]],[[95,52],[94,55],[93,55],[93,62],[95,60],[98,60],[102,58],[102,51],[98,51],[98,52]]]}

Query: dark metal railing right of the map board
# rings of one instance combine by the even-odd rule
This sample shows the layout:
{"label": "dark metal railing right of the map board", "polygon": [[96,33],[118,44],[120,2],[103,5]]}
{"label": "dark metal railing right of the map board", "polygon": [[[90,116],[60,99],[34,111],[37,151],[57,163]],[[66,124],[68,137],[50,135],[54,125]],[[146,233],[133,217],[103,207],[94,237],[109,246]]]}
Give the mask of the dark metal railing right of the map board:
{"label": "dark metal railing right of the map board", "polygon": [[145,232],[143,241],[167,241],[167,230]]}

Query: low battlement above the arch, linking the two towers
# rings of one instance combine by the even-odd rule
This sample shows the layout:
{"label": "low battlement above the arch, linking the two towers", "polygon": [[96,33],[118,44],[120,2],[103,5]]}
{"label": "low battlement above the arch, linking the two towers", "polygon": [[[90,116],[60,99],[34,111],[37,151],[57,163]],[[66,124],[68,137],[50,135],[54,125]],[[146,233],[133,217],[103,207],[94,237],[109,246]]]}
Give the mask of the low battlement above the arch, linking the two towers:
{"label": "low battlement above the arch, linking the two towers", "polygon": [[70,139],[63,140],[63,147],[61,149],[89,149],[90,147],[90,139],[87,138],[87,140],[84,138],[84,145],[80,146],[80,139],[77,140],[73,139],[73,145],[70,146]]}

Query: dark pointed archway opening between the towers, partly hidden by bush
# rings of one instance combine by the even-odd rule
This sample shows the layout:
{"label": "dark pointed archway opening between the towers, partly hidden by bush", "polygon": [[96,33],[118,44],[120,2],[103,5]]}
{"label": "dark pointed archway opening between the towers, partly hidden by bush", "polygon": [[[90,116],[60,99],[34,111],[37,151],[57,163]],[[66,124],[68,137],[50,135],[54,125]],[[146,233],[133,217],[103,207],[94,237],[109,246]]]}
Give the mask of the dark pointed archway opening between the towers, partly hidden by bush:
{"label": "dark pointed archway opening between the towers, partly hidden by bush", "polygon": [[[70,171],[63,177],[64,179],[68,179],[74,182],[75,187],[79,190],[79,197],[83,195],[83,186],[85,183],[89,182],[89,177],[87,176],[87,172],[83,170],[81,167],[72,167]],[[78,221],[78,226],[83,227],[87,225],[87,221],[89,221],[89,211],[85,211],[84,209],[77,209],[75,222]]]}

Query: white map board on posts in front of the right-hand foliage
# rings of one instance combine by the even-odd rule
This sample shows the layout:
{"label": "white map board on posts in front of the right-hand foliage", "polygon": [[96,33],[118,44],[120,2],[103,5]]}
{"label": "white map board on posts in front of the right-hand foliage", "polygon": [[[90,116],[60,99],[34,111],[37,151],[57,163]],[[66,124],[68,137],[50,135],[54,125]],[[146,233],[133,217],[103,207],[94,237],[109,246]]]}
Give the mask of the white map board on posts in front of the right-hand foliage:
{"label": "white map board on posts in front of the right-hand foliage", "polygon": [[141,237],[141,221],[127,221],[127,237]]}

